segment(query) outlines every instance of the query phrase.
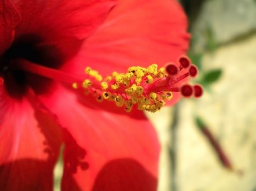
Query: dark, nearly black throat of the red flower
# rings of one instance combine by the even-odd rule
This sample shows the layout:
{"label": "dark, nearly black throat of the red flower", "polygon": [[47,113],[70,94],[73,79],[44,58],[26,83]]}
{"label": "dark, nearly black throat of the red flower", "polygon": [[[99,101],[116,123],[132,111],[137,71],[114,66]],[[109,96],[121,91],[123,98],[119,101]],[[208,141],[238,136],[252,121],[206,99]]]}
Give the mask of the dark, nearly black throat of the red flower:
{"label": "dark, nearly black throat of the red flower", "polygon": [[63,63],[60,58],[59,50],[55,46],[44,45],[43,40],[37,35],[27,34],[15,39],[0,59],[0,75],[4,78],[9,96],[21,98],[28,86],[36,93],[43,93],[51,84],[51,80],[45,77],[13,67],[15,62],[19,62],[18,59],[25,59],[45,67],[59,68]]}

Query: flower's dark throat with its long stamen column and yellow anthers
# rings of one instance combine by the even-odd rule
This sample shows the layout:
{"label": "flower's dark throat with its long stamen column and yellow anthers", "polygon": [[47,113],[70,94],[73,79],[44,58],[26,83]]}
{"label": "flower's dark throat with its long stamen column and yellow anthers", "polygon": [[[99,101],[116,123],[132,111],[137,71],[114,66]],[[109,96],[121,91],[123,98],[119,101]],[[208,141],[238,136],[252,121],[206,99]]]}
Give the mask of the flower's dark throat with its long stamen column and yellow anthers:
{"label": "flower's dark throat with its long stamen column and yellow anthers", "polygon": [[[109,76],[101,76],[98,71],[87,67],[84,76],[75,76],[58,70],[61,62],[56,59],[55,51],[51,49],[53,47],[40,46],[37,38],[25,42],[16,41],[3,56],[2,70],[11,71],[13,77],[8,79],[10,82],[5,79],[9,83],[9,93],[18,88],[13,84],[19,88],[36,85],[32,86],[35,91],[38,87],[42,89],[42,82],[40,85],[35,83],[37,76],[41,79],[43,77],[44,82],[52,79],[66,83],[83,94],[91,93],[98,102],[115,102],[127,112],[131,111],[133,106],[139,110],[156,112],[166,100],[173,98],[173,92],[179,92],[183,97],[196,98],[201,97],[203,93],[200,85],[182,84],[185,78],[195,77],[197,74],[196,66],[185,56],[179,58],[179,67],[173,63],[167,64],[165,68],[151,64],[147,68],[130,67],[127,73],[114,71]],[[50,54],[53,52],[55,56]],[[33,83],[28,80],[30,75],[33,75]]]}

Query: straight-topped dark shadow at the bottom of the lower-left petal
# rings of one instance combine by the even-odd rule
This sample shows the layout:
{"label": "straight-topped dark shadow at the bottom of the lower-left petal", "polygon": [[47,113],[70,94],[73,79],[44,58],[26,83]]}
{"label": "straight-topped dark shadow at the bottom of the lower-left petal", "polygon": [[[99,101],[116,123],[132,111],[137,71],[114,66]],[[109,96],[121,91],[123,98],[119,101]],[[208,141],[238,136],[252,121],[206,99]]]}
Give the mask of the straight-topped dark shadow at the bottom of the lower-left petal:
{"label": "straight-topped dark shadow at the bottom of the lower-left petal", "polygon": [[[53,168],[53,167],[52,167]],[[53,171],[49,163],[20,159],[0,166],[1,190],[52,190]]]}

